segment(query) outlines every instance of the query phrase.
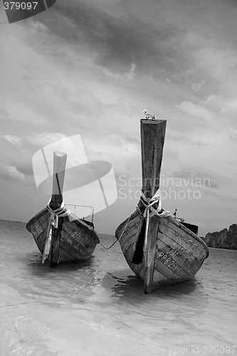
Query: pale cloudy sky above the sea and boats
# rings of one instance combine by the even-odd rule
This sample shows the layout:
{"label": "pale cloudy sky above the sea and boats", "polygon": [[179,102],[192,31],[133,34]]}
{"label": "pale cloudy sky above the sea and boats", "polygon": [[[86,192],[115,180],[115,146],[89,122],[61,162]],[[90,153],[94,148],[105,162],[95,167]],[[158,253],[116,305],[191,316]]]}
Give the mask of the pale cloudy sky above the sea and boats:
{"label": "pale cloudy sky above the sea and boats", "polygon": [[113,234],[137,205],[147,109],[167,120],[162,206],[201,235],[236,223],[235,0],[57,0],[11,24],[0,11],[1,219],[43,209],[32,157],[80,134],[115,172],[117,200],[95,214]]}

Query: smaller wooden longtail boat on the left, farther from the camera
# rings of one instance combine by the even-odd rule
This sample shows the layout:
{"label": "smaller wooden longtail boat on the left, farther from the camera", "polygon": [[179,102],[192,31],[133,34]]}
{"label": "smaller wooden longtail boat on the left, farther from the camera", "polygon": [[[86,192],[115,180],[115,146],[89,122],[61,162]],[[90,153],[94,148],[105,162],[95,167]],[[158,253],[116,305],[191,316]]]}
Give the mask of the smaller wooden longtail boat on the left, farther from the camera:
{"label": "smaller wooden longtail boat on the left, farther from the camera", "polygon": [[78,219],[65,208],[63,182],[67,155],[53,152],[53,193],[45,209],[28,221],[43,263],[48,260],[51,267],[69,261],[84,261],[99,244],[98,234],[90,221]]}

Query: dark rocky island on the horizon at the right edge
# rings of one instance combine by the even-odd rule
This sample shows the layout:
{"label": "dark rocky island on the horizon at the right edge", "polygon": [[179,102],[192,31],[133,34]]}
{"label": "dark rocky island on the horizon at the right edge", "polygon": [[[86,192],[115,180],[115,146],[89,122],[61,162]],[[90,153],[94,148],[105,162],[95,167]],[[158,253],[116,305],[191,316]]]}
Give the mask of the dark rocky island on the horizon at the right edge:
{"label": "dark rocky island on the horizon at the right edge", "polygon": [[232,224],[228,229],[209,232],[201,237],[209,247],[230,248],[237,250],[237,224]]}

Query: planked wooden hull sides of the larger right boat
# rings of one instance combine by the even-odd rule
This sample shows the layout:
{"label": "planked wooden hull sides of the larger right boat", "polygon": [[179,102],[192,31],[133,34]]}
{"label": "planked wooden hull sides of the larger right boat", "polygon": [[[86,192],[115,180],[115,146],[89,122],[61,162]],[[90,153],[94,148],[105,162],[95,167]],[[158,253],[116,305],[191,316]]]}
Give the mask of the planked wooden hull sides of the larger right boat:
{"label": "planked wooden hull sides of the larger right boat", "polygon": [[[122,252],[132,271],[144,281],[144,256],[142,263],[132,262],[143,217],[136,210],[130,218],[117,227],[115,236],[120,240]],[[121,236],[122,235],[122,236]],[[161,286],[188,281],[193,278],[209,250],[201,239],[172,216],[152,216],[148,236],[156,236],[152,267],[152,291]],[[121,236],[121,238],[120,238]]]}

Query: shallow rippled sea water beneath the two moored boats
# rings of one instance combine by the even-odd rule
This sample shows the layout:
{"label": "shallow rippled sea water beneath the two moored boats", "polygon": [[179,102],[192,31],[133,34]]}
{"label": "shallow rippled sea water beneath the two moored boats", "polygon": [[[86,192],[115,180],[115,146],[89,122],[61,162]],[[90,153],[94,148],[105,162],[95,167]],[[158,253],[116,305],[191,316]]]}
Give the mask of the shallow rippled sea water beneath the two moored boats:
{"label": "shallow rippled sea water beneath the two moored boats", "polygon": [[0,241],[1,356],[237,355],[237,251],[144,295],[119,244],[50,268],[25,224],[0,221]]}

